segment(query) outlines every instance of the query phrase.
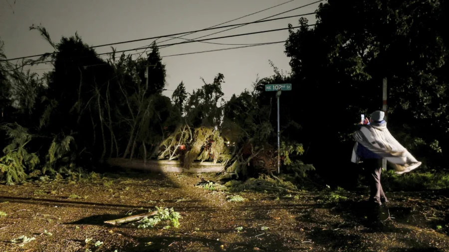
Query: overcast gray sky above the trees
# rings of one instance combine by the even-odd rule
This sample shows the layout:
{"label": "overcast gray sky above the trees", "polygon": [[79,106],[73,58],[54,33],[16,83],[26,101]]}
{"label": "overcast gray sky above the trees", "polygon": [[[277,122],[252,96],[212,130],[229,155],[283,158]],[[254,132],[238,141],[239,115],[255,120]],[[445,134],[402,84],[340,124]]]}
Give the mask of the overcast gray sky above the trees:
{"label": "overcast gray sky above the trees", "polygon": [[[37,31],[30,31],[32,24],[44,26],[54,42],[62,36],[72,36],[77,31],[89,45],[119,42],[125,40],[160,36],[190,30],[204,29],[258,10],[277,5],[287,0],[0,0],[0,39],[5,43],[8,58],[51,52],[51,46]],[[290,10],[315,0],[294,0],[281,6],[233,21],[229,24],[251,22]],[[8,2],[12,5],[9,6]],[[318,3],[303,7],[280,16],[314,12]],[[315,15],[306,16],[309,24],[315,22]],[[298,18],[288,18],[259,24],[250,24],[214,36],[270,30],[298,24]],[[186,36],[193,39],[219,30],[198,32]],[[261,43],[286,40],[287,30],[212,40],[218,43]],[[207,37],[209,38],[209,37]],[[163,41],[167,38],[159,39]],[[174,39],[166,43],[181,42]],[[145,46],[151,41],[117,45],[117,50]],[[160,50],[161,56],[213,50],[233,45],[188,43],[174,45]],[[98,53],[111,51],[110,47],[96,48]],[[256,75],[266,77],[273,71],[268,64],[272,60],[282,70],[289,71],[289,59],[284,54],[284,45],[263,45],[234,50],[200,53],[163,58],[167,69],[167,89],[174,90],[184,81],[188,92],[200,88],[203,77],[212,82],[217,73],[225,75],[223,91],[225,97],[239,94],[250,88]],[[131,51],[129,53],[135,53]],[[41,74],[51,65],[34,66]],[[44,70],[45,69],[45,70]],[[171,96],[171,91],[165,91]]]}

